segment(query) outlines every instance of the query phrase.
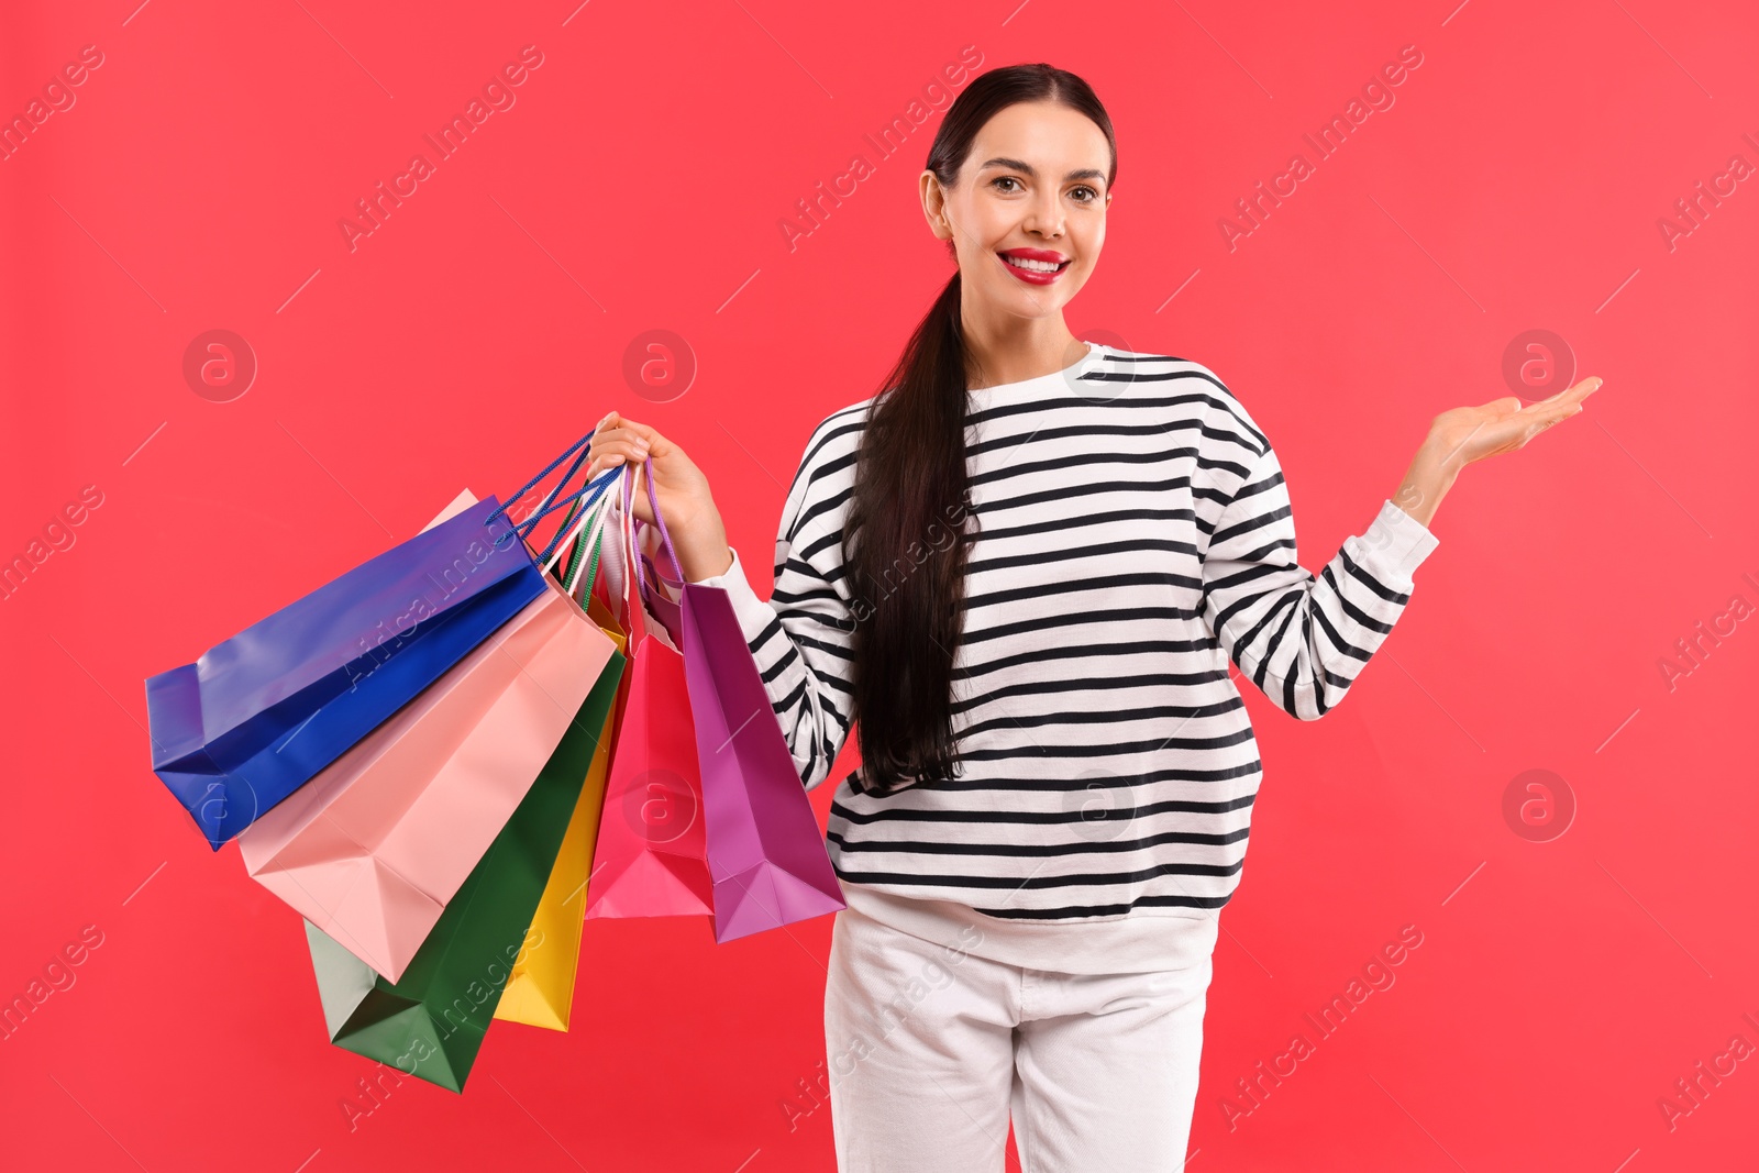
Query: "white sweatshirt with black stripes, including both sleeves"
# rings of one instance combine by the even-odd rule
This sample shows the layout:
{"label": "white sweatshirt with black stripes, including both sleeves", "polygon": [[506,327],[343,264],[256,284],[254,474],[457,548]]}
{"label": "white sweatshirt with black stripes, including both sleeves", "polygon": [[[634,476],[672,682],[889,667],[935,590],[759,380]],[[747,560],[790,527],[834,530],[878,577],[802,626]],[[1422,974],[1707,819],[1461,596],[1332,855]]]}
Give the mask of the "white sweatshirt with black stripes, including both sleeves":
{"label": "white sweatshirt with black stripes, including both sleeves", "polygon": [[[1089,343],[969,392],[976,514],[953,658],[960,770],[876,797],[837,781],[828,849],[857,913],[1061,973],[1207,960],[1261,765],[1230,661],[1279,709],[1333,709],[1437,538],[1390,499],[1312,575],[1277,454],[1198,362]],[[721,575],[807,790],[851,728],[843,519],[867,408],[806,443],[769,601]]]}

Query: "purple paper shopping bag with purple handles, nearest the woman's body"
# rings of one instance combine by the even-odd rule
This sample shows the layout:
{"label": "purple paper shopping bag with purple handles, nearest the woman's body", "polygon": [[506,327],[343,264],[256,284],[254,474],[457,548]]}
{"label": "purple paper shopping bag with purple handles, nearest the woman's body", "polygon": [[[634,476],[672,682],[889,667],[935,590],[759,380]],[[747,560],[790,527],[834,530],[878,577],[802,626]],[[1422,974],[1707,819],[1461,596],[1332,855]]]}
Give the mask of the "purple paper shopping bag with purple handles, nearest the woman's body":
{"label": "purple paper shopping bag with purple handles, nearest the woman's body", "polygon": [[[672,586],[682,586],[682,603],[670,603],[653,584],[654,568],[646,554],[633,550],[630,561],[642,598],[684,654],[714,883],[714,939],[732,941],[836,913],[846,907],[843,890],[734,603],[721,587],[684,582],[672,535],[660,515],[653,466],[644,461],[642,468],[661,549],[677,573]],[[623,485],[626,517],[631,515],[633,480],[631,475]]]}

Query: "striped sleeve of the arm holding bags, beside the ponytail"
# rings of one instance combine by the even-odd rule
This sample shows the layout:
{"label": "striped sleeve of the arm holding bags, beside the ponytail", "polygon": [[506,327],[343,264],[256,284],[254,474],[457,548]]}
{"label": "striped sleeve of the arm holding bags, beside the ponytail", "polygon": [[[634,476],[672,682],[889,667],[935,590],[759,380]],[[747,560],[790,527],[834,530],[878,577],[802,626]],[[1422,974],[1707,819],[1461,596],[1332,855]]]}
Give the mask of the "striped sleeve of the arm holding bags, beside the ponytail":
{"label": "striped sleeve of the arm holding bags, beside the ponytail", "polygon": [[832,459],[848,445],[848,427],[832,426],[837,419],[813,433],[783,503],[770,600],[751,589],[737,549],[732,566],[702,580],[732,600],[806,790],[830,774],[855,709],[855,617],[844,586],[841,521],[853,459]]}

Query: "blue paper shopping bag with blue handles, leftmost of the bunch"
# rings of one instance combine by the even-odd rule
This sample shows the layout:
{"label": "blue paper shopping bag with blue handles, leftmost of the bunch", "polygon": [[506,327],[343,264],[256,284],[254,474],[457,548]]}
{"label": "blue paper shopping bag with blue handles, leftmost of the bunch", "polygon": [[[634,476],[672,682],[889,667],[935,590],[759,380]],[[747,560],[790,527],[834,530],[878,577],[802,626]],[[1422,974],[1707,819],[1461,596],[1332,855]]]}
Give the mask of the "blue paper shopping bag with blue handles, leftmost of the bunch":
{"label": "blue paper shopping bag with blue handles, leftmost of the bunch", "polygon": [[[536,559],[524,538],[547,514],[589,503],[610,484],[605,473],[561,494],[589,440],[575,441],[507,505],[489,496],[195,663],[148,677],[153,772],[215,851],[544,594],[538,561],[563,533]],[[575,452],[551,492],[556,499],[515,526],[508,506]]]}

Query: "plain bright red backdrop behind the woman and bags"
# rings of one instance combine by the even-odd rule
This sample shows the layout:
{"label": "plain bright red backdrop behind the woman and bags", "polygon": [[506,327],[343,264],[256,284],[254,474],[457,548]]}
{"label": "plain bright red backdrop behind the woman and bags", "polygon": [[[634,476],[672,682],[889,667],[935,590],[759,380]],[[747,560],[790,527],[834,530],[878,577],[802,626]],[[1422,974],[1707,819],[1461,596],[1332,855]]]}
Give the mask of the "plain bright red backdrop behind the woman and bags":
{"label": "plain bright red backdrop behind the woman and bags", "polygon": [[[325,1041],[297,914],[150,772],[142,679],[610,408],[711,473],[767,594],[807,433],[876,389],[948,274],[916,204],[938,116],[892,158],[862,135],[974,46],[1108,104],[1117,199],[1069,325],[1228,382],[1307,566],[1437,412],[1509,394],[1522,331],[1606,378],[1467,470],[1349,703],[1302,725],[1247,693],[1266,776],[1191,1168],[1752,1168],[1759,1059],[1673,1127],[1657,1106],[1759,1045],[1759,635],[1731,616],[1673,688],[1659,667],[1759,603],[1759,193],[1673,246],[1659,227],[1759,162],[1748,5],[137,2],[11,4],[0,37],[7,118],[104,55],[0,162],[0,556],[102,492],[0,601],[0,997],[104,937],[0,1041],[0,1166],[832,1166],[828,1104],[793,1131],[781,1106],[823,1059],[830,918],[726,946],[591,922],[570,1034],[498,1024],[463,1096],[410,1080],[350,1131],[373,1064]],[[515,106],[350,250],[338,220],[528,44]],[[1395,106],[1230,250],[1217,220],[1407,44]],[[779,222],[855,153],[874,174],[790,248]],[[230,403],[181,373],[209,329],[260,364]],[[624,382],[649,329],[695,355],[681,397]],[[1530,769],[1578,804],[1550,842],[1504,820]],[[1405,925],[1397,983],[1230,1127],[1235,1080],[1314,1038],[1303,1013]]]}

